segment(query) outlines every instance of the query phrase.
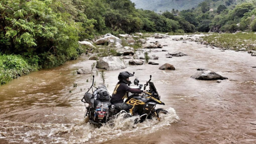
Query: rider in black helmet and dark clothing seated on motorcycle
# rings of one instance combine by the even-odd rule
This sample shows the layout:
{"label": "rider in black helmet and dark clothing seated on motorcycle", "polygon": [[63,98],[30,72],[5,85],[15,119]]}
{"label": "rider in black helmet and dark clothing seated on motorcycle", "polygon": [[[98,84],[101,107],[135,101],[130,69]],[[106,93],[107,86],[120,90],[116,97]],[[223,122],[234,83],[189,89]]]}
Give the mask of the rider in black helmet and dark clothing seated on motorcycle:
{"label": "rider in black helmet and dark clothing seated on motorcycle", "polygon": [[[134,76],[134,74],[127,71],[119,73],[118,75],[119,82],[116,84],[114,88],[114,92],[112,94],[110,102],[115,106],[115,108],[119,110],[125,110],[127,112],[130,112],[130,114],[133,115],[134,106],[127,103],[123,103],[123,99],[125,96],[128,97],[127,91],[131,93],[142,93],[144,91],[129,87],[130,84],[132,83],[129,77],[132,77],[132,76]],[[128,111],[129,109],[130,111]]]}

